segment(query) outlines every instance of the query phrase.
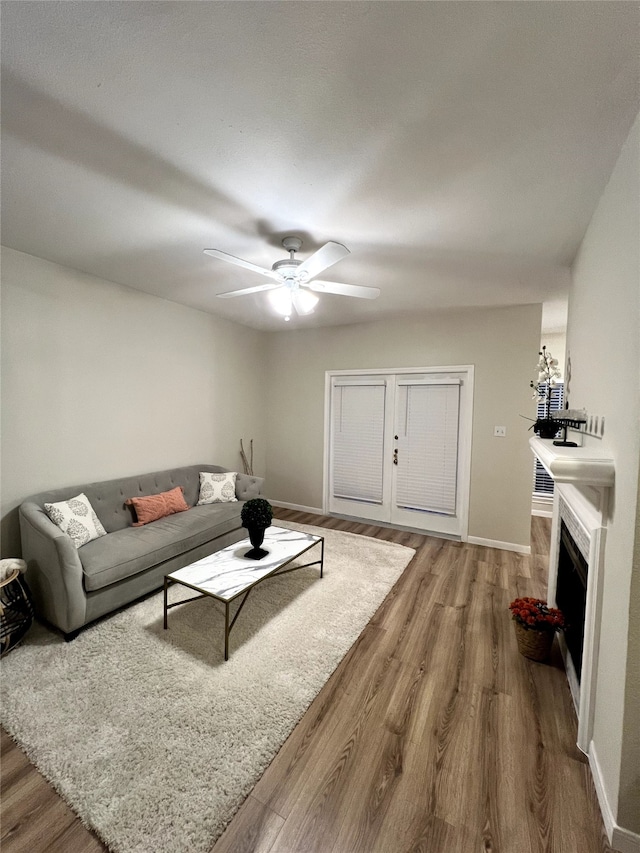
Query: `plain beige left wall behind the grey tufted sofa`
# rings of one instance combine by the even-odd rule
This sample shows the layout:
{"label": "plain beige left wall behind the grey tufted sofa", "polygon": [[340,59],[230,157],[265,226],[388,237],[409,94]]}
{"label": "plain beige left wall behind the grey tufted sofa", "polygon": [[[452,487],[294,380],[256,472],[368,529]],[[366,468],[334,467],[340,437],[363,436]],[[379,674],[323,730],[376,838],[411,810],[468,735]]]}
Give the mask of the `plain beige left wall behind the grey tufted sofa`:
{"label": "plain beige left wall behind the grey tufted sofa", "polygon": [[264,334],[2,251],[2,554],[35,492],[197,462],[265,467]]}

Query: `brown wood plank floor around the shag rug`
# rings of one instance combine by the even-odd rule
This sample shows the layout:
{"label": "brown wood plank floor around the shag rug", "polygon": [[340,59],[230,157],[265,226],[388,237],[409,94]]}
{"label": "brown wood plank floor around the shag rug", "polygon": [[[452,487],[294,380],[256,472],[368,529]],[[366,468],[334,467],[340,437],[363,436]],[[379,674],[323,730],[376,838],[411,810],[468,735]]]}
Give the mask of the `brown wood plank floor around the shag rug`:
{"label": "brown wood plank floor around the shag rug", "polygon": [[[416,555],[213,853],[608,853],[557,650],[522,658],[508,614],[544,596],[549,522],[524,557],[276,516]],[[105,849],[4,732],[1,775],[3,853]]]}

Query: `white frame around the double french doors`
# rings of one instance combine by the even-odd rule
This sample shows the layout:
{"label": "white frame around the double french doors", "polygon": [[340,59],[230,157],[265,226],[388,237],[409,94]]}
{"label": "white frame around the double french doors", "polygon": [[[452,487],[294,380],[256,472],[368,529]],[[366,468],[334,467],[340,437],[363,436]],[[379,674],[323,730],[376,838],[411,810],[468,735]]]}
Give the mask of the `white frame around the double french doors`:
{"label": "white frame around the double french doors", "polygon": [[[407,376],[424,378],[438,375],[452,375],[452,378],[461,379],[463,393],[460,395],[460,443],[458,445],[458,489],[460,508],[460,539],[467,541],[469,531],[469,491],[471,485],[471,439],[473,428],[473,389],[474,389],[474,365],[457,364],[432,367],[385,367],[385,368],[362,368],[357,370],[327,370],[325,372],[325,394],[324,394],[324,448],[323,448],[323,489],[322,489],[322,511],[329,515],[329,466],[331,435],[331,382],[334,378],[347,376],[362,377],[386,377]],[[437,533],[435,535],[438,535]],[[455,537],[458,538],[457,536]]]}

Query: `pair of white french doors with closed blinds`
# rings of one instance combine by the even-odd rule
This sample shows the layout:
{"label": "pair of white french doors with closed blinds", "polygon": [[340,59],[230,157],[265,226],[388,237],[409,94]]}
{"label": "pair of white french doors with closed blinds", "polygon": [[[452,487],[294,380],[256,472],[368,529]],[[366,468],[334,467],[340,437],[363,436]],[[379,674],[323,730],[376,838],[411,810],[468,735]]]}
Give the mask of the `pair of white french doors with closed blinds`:
{"label": "pair of white french doors with closed blinds", "polygon": [[329,512],[466,538],[473,369],[328,375]]}

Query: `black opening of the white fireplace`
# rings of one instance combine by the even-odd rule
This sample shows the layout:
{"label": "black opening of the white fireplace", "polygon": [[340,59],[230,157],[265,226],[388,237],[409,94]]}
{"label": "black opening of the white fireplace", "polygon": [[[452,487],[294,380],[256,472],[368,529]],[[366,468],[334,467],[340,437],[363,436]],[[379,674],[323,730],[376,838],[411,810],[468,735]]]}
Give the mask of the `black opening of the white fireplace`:
{"label": "black opening of the white fireplace", "polygon": [[587,561],[578,550],[569,528],[562,521],[560,524],[556,604],[564,615],[564,637],[578,684],[582,674],[582,645],[584,642],[588,571]]}

